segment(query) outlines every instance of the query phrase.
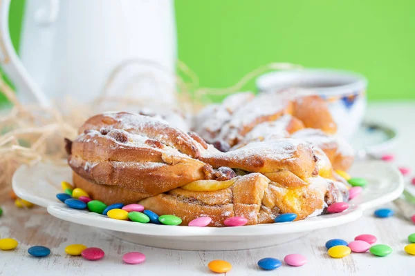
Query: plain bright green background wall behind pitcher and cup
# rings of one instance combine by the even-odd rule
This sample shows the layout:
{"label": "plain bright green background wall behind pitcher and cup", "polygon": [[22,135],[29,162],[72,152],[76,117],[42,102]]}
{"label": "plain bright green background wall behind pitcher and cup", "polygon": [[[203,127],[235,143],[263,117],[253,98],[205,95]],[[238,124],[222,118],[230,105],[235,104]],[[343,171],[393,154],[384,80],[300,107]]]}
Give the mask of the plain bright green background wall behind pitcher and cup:
{"label": "plain bright green background wall behind pitcher and cup", "polygon": [[[68,1],[68,0],[66,0]],[[157,0],[152,0],[157,1]],[[369,79],[369,99],[415,99],[414,0],[176,0],[178,57],[225,87],[274,61]],[[18,46],[24,0],[12,0]],[[253,88],[249,83],[246,88]]]}

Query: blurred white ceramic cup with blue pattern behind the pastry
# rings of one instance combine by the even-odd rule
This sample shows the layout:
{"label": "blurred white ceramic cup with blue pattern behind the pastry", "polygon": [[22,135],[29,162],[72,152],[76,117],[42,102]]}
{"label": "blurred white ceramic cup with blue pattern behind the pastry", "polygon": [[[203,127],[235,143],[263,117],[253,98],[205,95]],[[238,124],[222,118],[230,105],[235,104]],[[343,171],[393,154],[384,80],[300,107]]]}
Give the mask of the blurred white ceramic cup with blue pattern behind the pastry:
{"label": "blurred white ceramic cup with blue pattern behind the pastry", "polygon": [[284,88],[306,88],[329,104],[338,133],[353,135],[362,124],[367,106],[367,79],[360,74],[333,69],[303,69],[268,72],[256,79],[260,92]]}

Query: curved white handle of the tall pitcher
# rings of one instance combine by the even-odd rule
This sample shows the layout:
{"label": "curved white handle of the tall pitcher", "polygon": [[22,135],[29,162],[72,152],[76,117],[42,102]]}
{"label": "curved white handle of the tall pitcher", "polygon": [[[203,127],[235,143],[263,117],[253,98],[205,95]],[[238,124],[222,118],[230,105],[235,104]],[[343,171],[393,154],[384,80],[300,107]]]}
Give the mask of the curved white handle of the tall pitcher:
{"label": "curved white handle of the tall pitcher", "polygon": [[0,65],[22,93],[28,93],[41,106],[50,106],[50,100],[30,77],[12,46],[8,28],[10,0],[0,3]]}

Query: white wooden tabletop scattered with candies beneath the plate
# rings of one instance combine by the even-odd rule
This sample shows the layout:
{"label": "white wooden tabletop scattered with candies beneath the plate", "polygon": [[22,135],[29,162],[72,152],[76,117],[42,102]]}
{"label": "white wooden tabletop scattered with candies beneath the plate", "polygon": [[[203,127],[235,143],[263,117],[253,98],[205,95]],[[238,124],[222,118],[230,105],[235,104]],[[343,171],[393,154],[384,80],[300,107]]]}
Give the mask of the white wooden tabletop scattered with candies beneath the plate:
{"label": "white wooden tabletop scattered with candies beneath the plate", "polygon": [[[396,164],[415,170],[415,103],[373,103],[368,118],[395,126],[401,137],[396,147]],[[415,176],[415,172],[414,172]],[[415,233],[415,225],[395,215],[389,219],[373,217],[368,211],[351,224],[317,230],[288,244],[228,252],[192,252],[166,250],[129,244],[113,239],[94,228],[71,224],[51,217],[43,208],[21,210],[7,197],[1,198],[4,214],[0,218],[1,237],[13,237],[19,247],[12,251],[0,250],[0,275],[213,275],[207,264],[212,259],[225,259],[233,266],[227,275],[414,275],[415,256],[403,250],[407,236]],[[389,207],[394,208],[392,204]],[[394,253],[387,257],[374,257],[369,253],[352,253],[344,259],[332,259],[324,247],[328,239],[353,240],[360,234],[378,237],[378,243],[387,244]],[[98,262],[64,253],[68,244],[85,244],[102,248],[106,256]],[[49,257],[29,257],[27,249],[34,245],[48,246]],[[147,260],[139,265],[122,264],[122,255],[140,251]],[[263,257],[283,259],[290,253],[308,257],[305,266],[294,268],[283,264],[273,272],[257,268]]]}

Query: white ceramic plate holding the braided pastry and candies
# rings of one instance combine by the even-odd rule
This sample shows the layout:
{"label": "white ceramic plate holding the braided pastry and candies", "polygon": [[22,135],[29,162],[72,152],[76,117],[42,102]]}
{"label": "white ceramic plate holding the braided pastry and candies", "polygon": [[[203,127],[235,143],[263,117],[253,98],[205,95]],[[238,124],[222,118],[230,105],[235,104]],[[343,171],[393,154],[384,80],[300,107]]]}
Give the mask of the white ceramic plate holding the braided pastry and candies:
{"label": "white ceramic plate holding the braided pastry and candies", "polygon": [[67,167],[50,164],[21,166],[13,177],[13,189],[19,197],[48,208],[48,213],[54,217],[101,228],[129,242],[182,250],[238,250],[281,244],[312,230],[347,224],[361,217],[363,210],[394,200],[403,192],[402,175],[386,162],[356,162],[351,175],[364,177],[368,185],[343,213],[281,224],[227,228],[140,224],[67,208],[55,197],[57,193],[62,193],[60,182],[71,181],[71,170]]}

